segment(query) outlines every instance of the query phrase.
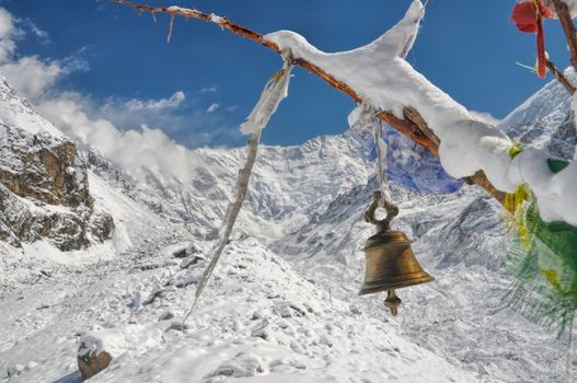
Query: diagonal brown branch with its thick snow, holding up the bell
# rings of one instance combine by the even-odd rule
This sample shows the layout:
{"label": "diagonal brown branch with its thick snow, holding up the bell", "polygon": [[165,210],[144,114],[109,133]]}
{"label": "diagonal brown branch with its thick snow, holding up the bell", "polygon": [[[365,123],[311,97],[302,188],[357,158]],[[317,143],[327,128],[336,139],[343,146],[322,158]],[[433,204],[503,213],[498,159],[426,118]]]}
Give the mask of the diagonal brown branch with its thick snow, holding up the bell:
{"label": "diagonal brown branch with its thick snow, holding up the bell", "polygon": [[440,154],[449,174],[480,185],[501,202],[503,192],[512,192],[517,185],[527,183],[538,198],[544,220],[562,219],[577,224],[577,198],[572,193],[577,189],[575,163],[553,174],[542,151],[526,150],[511,160],[512,142],[505,134],[477,120],[404,60],[425,13],[419,0],[414,0],[401,22],[377,40],[334,54],[316,49],[290,31],[263,36],[226,18],[198,10],[112,1],[141,12],[204,20],[274,51],[291,51],[293,65],[319,76],[358,104],[379,109],[379,118],[430,152]]}

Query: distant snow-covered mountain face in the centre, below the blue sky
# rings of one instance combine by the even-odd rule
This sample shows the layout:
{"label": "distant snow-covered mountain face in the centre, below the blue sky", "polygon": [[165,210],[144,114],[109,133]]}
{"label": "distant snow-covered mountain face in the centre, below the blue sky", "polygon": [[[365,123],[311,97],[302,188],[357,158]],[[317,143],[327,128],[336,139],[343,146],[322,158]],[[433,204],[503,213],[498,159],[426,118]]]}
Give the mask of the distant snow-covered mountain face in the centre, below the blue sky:
{"label": "distant snow-covered mountain face in the centre, below the blue sky", "polygon": [[[366,183],[372,169],[365,151],[348,135],[318,137],[298,147],[262,146],[252,192],[236,228],[265,243],[282,237],[305,221],[310,211],[326,208],[339,194]],[[185,175],[166,169],[125,171],[95,152],[89,163],[101,177],[162,217],[185,223],[197,237],[214,239],[214,229],[232,198],[236,170],[244,164],[245,149],[196,149],[184,156],[180,166],[188,170]],[[124,173],[122,185],[115,181],[118,172]]]}

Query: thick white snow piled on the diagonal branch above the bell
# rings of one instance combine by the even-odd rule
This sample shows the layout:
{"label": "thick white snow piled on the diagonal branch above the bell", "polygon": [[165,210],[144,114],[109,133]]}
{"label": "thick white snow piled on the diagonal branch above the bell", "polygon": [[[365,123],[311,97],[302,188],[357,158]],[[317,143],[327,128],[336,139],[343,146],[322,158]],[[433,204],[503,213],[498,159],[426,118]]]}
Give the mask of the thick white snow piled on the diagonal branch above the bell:
{"label": "thick white snow piled on the diagonal branch above the bell", "polygon": [[496,188],[509,193],[528,184],[544,220],[577,225],[575,162],[554,174],[542,151],[526,150],[511,159],[512,142],[505,134],[478,120],[404,60],[423,15],[422,2],[414,0],[403,20],[389,32],[349,51],[321,51],[290,31],[268,34],[265,39],[332,74],[377,109],[404,119],[403,111],[415,108],[440,139],[439,155],[450,175],[472,176],[483,170]]}

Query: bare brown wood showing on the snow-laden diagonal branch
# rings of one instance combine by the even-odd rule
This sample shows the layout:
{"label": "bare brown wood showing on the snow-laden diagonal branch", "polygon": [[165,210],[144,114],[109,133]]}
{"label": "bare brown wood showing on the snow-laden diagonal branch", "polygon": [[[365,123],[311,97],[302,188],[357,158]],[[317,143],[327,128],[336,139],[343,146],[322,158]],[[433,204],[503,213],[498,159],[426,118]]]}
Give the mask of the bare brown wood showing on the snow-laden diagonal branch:
{"label": "bare brown wood showing on the snow-laden diagonal branch", "polygon": [[[134,8],[140,12],[150,12],[152,15],[154,15],[154,13],[168,13],[171,15],[171,18],[174,18],[175,15],[182,15],[187,19],[199,19],[199,20],[203,20],[209,23],[217,24],[221,28],[229,30],[230,32],[236,35],[240,35],[255,43],[264,45],[265,47],[276,53],[280,53],[280,48],[276,44],[265,40],[263,35],[254,31],[251,31],[244,26],[235,24],[231,22],[230,20],[228,20],[227,18],[216,16],[214,14],[207,14],[196,9],[185,9],[185,8],[180,8],[180,7],[168,7],[168,8],[166,7],[149,7],[149,5],[141,5],[132,1],[128,1],[128,0],[111,0],[111,1]],[[302,58],[295,59],[292,63],[301,68],[304,68],[309,72],[320,77],[321,79],[326,81],[331,86],[349,95],[353,100],[355,100],[356,103],[361,104],[363,102],[362,98],[345,82],[334,78],[332,74],[325,72],[324,70],[322,70],[314,63],[305,59],[302,59]],[[403,134],[411,140],[417,142],[418,144],[427,149],[429,152],[434,153],[435,155],[439,155],[439,143],[440,143],[439,138],[435,136],[435,134],[428,127],[427,123],[420,116],[418,111],[416,111],[413,107],[405,107],[403,111],[403,115],[405,118],[402,119],[402,118],[396,117],[394,114],[390,112],[382,111],[377,115],[377,117],[388,123],[393,128],[399,130],[401,134]],[[477,172],[475,175],[471,177],[466,177],[465,181],[470,184],[476,184],[481,186],[486,192],[488,192],[493,197],[495,197],[499,202],[503,204],[504,196],[505,196],[504,193],[497,190],[491,184],[491,182],[487,179],[483,171]]]}

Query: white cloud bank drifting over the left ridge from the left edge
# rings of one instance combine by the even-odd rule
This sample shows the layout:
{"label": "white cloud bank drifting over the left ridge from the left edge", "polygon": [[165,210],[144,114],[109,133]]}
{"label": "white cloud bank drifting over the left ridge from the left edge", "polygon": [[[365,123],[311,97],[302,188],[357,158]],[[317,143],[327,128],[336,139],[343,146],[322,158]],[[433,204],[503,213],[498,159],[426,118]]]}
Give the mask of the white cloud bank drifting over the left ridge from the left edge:
{"label": "white cloud bank drifting over the left ridge from the left edge", "polygon": [[[195,146],[210,143],[215,137],[240,139],[238,129],[219,127],[218,114],[204,109],[183,108],[189,102],[183,91],[163,98],[109,97],[104,101],[62,91],[58,81],[65,76],[89,70],[88,62],[74,56],[61,60],[43,60],[38,57],[13,59],[18,27],[9,12],[0,8],[0,71],[9,82],[31,101],[36,111],[53,121],[67,136],[91,146],[138,175],[142,167],[159,169],[182,181],[188,179],[194,153],[171,139],[164,129],[185,129]],[[1,50],[3,47],[4,50]],[[82,51],[82,50],[81,50]],[[207,89],[205,92],[216,92]],[[210,108],[215,112],[215,104]]]}

